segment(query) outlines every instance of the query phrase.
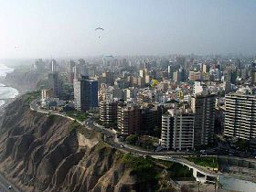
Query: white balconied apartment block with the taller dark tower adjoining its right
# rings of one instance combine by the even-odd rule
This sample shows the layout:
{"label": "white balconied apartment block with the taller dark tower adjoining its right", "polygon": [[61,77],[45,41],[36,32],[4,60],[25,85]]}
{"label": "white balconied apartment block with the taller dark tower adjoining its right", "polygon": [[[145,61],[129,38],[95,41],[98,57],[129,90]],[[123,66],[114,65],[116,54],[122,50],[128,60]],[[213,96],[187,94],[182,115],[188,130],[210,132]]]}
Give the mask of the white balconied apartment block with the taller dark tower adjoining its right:
{"label": "white balconied apartment block with the taller dark tower adjoining its right", "polygon": [[197,94],[187,103],[162,116],[160,143],[167,149],[190,150],[213,144],[215,130],[214,94]]}

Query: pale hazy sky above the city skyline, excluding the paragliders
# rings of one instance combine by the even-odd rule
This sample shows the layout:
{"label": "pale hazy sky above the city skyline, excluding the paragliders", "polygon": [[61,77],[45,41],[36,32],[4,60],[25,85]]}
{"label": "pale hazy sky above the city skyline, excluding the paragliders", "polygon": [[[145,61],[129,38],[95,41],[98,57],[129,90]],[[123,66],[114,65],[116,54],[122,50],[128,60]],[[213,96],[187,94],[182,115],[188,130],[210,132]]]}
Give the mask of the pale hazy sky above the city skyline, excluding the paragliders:
{"label": "pale hazy sky above the city skyline, excluding the paragliders", "polygon": [[255,54],[256,1],[0,0],[2,59],[172,53]]}

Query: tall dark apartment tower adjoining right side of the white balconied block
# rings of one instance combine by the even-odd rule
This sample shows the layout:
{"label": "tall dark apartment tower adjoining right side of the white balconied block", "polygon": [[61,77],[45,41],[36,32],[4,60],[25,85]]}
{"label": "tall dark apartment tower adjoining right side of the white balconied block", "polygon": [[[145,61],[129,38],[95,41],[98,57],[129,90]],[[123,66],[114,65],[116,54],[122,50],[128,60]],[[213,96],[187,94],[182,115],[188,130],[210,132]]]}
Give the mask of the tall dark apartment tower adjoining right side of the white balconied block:
{"label": "tall dark apartment tower adjoining right side of the white balconied block", "polygon": [[191,108],[195,113],[195,146],[213,143],[215,124],[215,102],[213,94],[197,94],[192,97]]}

